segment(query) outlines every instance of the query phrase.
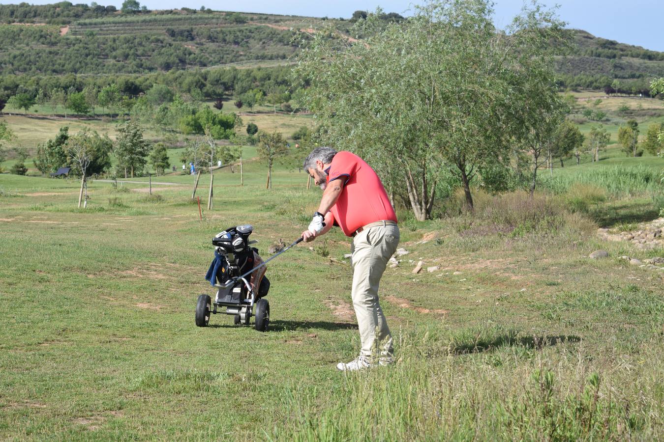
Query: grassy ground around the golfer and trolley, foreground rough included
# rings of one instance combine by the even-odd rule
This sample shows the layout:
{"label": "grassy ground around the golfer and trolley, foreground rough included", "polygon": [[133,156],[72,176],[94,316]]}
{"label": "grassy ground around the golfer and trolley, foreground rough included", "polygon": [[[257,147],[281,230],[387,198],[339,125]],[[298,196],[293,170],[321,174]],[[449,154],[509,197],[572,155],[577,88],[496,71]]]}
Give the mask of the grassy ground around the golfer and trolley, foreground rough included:
{"label": "grassy ground around the golfer and trolley, foreground rough included", "polygon": [[[212,236],[252,223],[266,258],[317,204],[304,174],[278,169],[270,191],[262,164],[245,171],[244,188],[216,173],[202,222],[190,176],[153,180],[153,197],[93,182],[85,210],[76,181],[0,176],[0,439],[664,437],[664,271],[617,258],[664,252],[600,242],[565,195],[400,213],[409,254],[381,286],[394,366],[335,370],[359,349],[339,231],[270,265],[266,333],[226,315],[196,327]],[[587,258],[600,248],[610,258]]]}

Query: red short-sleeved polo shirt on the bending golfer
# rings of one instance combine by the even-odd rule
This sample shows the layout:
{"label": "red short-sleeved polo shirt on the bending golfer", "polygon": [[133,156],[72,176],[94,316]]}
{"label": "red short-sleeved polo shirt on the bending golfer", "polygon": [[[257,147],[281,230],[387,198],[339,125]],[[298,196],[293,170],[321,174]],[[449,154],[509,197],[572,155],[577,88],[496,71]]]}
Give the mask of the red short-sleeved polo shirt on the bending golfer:
{"label": "red short-sleeved polo shirt on the bending golfer", "polygon": [[330,211],[347,237],[376,221],[396,222],[387,192],[365,160],[351,152],[338,152],[327,169],[327,182],[340,179],[346,183]]}

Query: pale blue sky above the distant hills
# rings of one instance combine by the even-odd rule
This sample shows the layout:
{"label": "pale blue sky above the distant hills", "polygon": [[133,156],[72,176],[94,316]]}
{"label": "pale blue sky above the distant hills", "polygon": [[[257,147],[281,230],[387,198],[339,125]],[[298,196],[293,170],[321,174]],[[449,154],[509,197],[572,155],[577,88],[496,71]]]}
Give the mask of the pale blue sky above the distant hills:
{"label": "pale blue sky above the distant hills", "polygon": [[[72,3],[83,3],[70,0]],[[172,9],[187,6],[198,9],[205,6],[217,11],[242,11],[272,13],[284,15],[306,15],[310,17],[345,17],[353,15],[358,9],[373,11],[377,6],[386,12],[406,15],[413,0],[243,0],[238,2],[219,2],[194,0],[139,0],[148,9]],[[548,6],[560,5],[558,15],[568,23],[568,27],[583,29],[595,36],[617,40],[621,43],[635,44],[646,49],[664,52],[664,38],[660,26],[662,0],[541,0]],[[19,0],[0,0],[0,4],[19,3]],[[52,1],[33,1],[37,5],[55,3]],[[120,7],[122,0],[98,0],[100,5]],[[523,0],[495,0],[495,23],[503,28],[519,13]]]}

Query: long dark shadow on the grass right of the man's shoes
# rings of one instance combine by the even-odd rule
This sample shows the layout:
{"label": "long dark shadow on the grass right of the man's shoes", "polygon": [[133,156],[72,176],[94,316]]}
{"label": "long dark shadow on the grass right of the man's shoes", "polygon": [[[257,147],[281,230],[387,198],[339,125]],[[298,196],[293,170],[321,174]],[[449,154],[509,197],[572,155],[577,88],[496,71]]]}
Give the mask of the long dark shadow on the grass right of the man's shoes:
{"label": "long dark shadow on the grass right of the man's shoes", "polygon": [[576,335],[517,337],[515,333],[508,332],[490,338],[477,337],[474,342],[461,341],[454,343],[452,351],[457,355],[465,355],[468,353],[494,351],[499,347],[523,347],[525,349],[541,350],[544,347],[560,343],[576,343],[579,341],[581,341],[581,338]]}

